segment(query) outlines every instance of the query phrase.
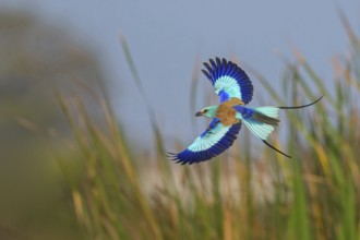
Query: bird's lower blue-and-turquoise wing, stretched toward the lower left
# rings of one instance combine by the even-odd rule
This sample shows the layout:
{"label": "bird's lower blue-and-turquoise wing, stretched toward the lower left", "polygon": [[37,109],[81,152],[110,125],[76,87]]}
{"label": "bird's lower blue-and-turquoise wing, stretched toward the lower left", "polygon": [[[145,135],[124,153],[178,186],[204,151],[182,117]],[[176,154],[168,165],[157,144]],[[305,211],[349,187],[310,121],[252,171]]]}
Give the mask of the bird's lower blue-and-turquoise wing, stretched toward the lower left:
{"label": "bird's lower blue-and-turquoise wing, stretched toward the lower left", "polygon": [[241,129],[241,122],[225,127],[218,119],[213,119],[205,132],[179,154],[168,153],[181,164],[194,164],[209,160],[229,148]]}

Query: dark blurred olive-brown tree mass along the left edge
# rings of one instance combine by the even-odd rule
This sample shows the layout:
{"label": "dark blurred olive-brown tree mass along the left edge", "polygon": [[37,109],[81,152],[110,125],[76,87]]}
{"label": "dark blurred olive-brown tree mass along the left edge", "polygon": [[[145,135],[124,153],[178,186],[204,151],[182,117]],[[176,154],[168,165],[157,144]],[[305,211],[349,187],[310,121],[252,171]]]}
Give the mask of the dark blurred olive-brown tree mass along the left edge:
{"label": "dark blurred olive-brown tree mass along the left edge", "polygon": [[[67,136],[53,89],[95,85],[101,75],[94,53],[63,29],[29,14],[0,12],[0,229],[71,218],[70,212],[57,216],[61,185],[49,179],[56,172],[51,149]],[[43,213],[47,205],[52,213]]]}

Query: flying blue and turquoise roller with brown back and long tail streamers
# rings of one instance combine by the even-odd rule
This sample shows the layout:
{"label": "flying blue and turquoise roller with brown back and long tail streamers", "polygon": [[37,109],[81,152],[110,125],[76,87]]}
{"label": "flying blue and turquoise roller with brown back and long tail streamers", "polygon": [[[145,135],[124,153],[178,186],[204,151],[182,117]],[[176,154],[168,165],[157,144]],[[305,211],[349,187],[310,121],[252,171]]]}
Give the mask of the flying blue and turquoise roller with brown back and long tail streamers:
{"label": "flying blue and turquoise roller with brown back and long tail streamers", "polygon": [[243,123],[267,146],[290,158],[266,141],[280,121],[279,109],[305,108],[316,104],[322,97],[311,104],[296,107],[247,107],[254,88],[240,67],[224,58],[209,59],[209,62],[204,62],[204,67],[202,72],[215,87],[220,104],[205,107],[195,113],[196,117],[204,116],[213,120],[188,148],[179,154],[169,153],[169,156],[181,164],[209,160],[233,144]]}

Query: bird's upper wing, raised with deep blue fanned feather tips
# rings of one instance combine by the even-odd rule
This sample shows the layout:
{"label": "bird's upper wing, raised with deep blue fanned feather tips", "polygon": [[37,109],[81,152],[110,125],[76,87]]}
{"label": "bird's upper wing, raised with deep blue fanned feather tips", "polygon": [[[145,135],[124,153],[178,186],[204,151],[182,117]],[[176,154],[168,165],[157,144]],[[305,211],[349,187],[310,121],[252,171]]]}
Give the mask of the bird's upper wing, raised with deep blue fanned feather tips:
{"label": "bird's upper wing, raised with deep blue fanned feather tips", "polygon": [[220,96],[220,103],[236,97],[244,104],[249,104],[254,88],[247,73],[225,58],[223,60],[215,58],[215,60],[209,59],[208,61],[209,63],[203,63],[206,70],[202,70],[202,72],[212,82],[215,93]]}

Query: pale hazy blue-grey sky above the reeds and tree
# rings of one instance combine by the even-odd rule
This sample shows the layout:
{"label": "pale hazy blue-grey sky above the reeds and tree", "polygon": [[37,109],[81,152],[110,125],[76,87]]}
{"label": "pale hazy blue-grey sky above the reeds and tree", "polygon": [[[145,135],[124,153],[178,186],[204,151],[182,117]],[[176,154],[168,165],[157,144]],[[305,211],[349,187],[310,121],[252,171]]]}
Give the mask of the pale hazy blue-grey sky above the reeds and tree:
{"label": "pale hazy blue-grey sky above the reeds and tree", "polygon": [[[120,34],[129,41],[166,139],[176,137],[187,145],[205,128],[201,120],[196,120],[196,132],[190,128],[194,117],[189,96],[196,56],[206,61],[236,55],[280,87],[284,64],[279,55],[293,59],[293,45],[320,76],[331,81],[332,57],[348,48],[336,8],[344,10],[356,29],[360,16],[356,0],[0,0],[0,8],[4,7],[28,10],[49,24],[70,28],[76,33],[75,40],[85,39],[96,49],[112,80],[110,93],[119,119],[142,146],[152,146],[149,123],[125,64]],[[199,92],[212,91],[205,77],[200,80]],[[264,89],[252,81],[255,106]],[[200,97],[196,108],[203,104]]]}

